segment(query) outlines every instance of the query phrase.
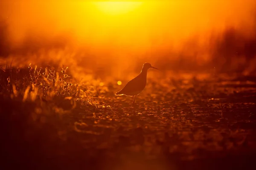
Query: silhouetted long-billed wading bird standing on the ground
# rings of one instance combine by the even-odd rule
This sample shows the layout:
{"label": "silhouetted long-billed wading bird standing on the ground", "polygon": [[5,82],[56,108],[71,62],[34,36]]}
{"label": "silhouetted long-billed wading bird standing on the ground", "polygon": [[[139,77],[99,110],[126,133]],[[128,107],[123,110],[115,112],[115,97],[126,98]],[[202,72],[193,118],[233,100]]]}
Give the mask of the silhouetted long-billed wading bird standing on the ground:
{"label": "silhouetted long-billed wading bird standing on the ground", "polygon": [[146,87],[147,84],[147,73],[149,68],[154,68],[159,70],[158,68],[155,68],[151,66],[150,63],[145,62],[143,64],[143,67],[140,71],[140,74],[135,77],[134,79],[131,79],[126,85],[122,88],[122,90],[116,92],[116,96],[133,96],[133,102],[132,105],[134,107],[134,112],[135,112],[135,100],[138,94],[140,94],[144,88]]}

